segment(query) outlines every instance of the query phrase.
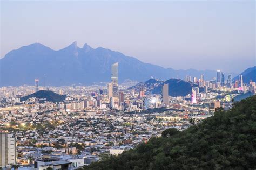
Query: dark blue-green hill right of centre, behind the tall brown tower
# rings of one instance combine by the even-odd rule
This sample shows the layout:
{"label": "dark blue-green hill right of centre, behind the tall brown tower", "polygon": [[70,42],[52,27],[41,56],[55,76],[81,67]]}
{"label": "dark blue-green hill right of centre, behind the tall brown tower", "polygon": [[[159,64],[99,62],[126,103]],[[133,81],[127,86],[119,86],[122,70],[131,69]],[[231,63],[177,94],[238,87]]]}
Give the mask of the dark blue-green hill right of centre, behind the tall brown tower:
{"label": "dark blue-green hill right of centre, behind the tall brown tower", "polygon": [[[163,82],[160,86],[154,88],[152,93],[161,94],[163,89],[163,84],[168,84],[169,87],[169,96],[186,96],[191,93],[192,87],[198,87],[198,84],[187,82],[181,79],[169,79]],[[202,91],[203,88],[199,88],[199,91]]]}

